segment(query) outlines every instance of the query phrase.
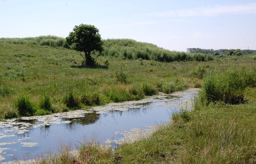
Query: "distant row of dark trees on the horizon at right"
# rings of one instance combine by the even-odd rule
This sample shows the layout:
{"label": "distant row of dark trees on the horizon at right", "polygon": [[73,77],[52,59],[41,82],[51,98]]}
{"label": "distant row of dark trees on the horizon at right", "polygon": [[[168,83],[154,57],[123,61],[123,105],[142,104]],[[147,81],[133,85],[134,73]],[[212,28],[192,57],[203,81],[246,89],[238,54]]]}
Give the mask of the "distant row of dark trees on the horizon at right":
{"label": "distant row of dark trees on the horizon at right", "polygon": [[225,54],[225,52],[232,51],[232,52],[241,52],[242,54],[252,54],[256,53],[256,50],[251,50],[249,51],[247,49],[201,49],[201,48],[187,48],[187,53],[202,53],[202,54],[214,54],[214,53],[219,53],[219,54]]}

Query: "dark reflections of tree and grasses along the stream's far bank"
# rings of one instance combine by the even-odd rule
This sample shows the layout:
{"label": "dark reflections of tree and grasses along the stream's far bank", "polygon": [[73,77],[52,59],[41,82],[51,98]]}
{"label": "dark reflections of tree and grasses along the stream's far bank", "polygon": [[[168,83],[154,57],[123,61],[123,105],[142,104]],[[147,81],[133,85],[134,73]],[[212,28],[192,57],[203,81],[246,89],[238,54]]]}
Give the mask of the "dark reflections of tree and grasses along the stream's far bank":
{"label": "dark reflections of tree and grasses along the stream's far bank", "polygon": [[[98,122],[98,125],[100,125],[101,116],[103,116],[104,118],[112,118],[112,121],[115,124],[117,124],[116,117],[120,117],[122,115],[125,115],[125,117],[130,117],[130,118],[141,117],[142,115],[146,115],[147,113],[150,113],[152,110],[152,106],[166,105],[166,104],[168,103],[167,102],[147,102],[147,103],[136,104],[136,106],[140,106],[140,107],[129,108],[126,111],[112,110],[104,114],[87,113],[82,118],[61,118],[61,121],[69,121],[69,123],[62,123],[61,126],[63,126],[64,129],[66,129],[67,131],[75,134],[81,130],[82,126],[95,124],[96,122]],[[22,134],[17,134],[19,138],[31,137],[34,131],[33,125],[37,125],[40,123],[36,119],[33,119],[33,120],[18,119],[16,120],[16,122],[21,123],[16,125],[20,130],[26,130],[26,132]],[[27,124],[24,125],[24,123],[27,123]],[[40,135],[44,138],[48,137],[51,133],[50,127],[51,127],[50,124],[40,126]]]}

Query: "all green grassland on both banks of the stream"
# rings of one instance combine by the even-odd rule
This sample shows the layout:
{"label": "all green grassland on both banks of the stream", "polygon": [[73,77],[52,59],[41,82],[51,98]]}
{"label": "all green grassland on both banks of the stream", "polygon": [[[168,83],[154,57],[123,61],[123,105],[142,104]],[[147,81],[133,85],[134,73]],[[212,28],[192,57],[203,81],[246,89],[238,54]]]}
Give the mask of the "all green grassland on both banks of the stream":
{"label": "all green grassland on both banks of the stream", "polygon": [[[129,41],[130,46],[125,44]],[[255,54],[206,55],[204,59],[211,60],[198,61],[193,58],[195,54],[110,39],[103,56],[97,58],[98,64],[86,67],[81,65],[79,52],[38,43],[17,44],[0,39],[2,119],[87,110],[94,105],[192,87],[202,91],[194,100],[192,111],[184,107],[147,139],[124,143],[114,150],[85,143],[79,147],[78,157],[63,149],[60,155],[36,163],[256,162],[256,133],[252,128],[256,126]],[[148,51],[147,46],[151,47]],[[127,49],[126,53],[123,49]],[[148,55],[143,57],[144,49]],[[150,52],[153,49],[155,54]],[[175,59],[178,54],[185,54],[185,60],[166,60]]]}

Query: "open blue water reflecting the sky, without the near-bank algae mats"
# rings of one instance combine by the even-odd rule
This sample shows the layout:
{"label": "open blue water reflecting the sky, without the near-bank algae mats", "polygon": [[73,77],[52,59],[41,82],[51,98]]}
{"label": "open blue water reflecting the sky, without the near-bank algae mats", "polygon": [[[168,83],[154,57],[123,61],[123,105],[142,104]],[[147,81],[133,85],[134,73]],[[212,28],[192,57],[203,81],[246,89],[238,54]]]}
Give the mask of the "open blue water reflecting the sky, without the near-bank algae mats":
{"label": "open blue water reflecting the sky, without the near-bank algae mats", "polygon": [[[149,103],[131,104],[131,106],[129,105],[131,108],[126,111],[113,110],[105,114],[88,113],[84,115],[80,113],[77,116],[79,118],[71,118],[77,113],[71,113],[71,115],[70,113],[63,113],[34,117],[38,120],[18,119],[2,122],[0,124],[2,127],[0,128],[2,143],[0,149],[3,149],[3,153],[0,154],[0,162],[11,161],[13,157],[24,159],[24,154],[32,159],[36,153],[41,154],[48,150],[58,149],[60,142],[80,143],[85,139],[96,139],[99,143],[106,144],[104,142],[106,139],[119,140],[125,136],[124,133],[133,133],[130,131],[131,129],[145,130],[146,126],[165,123],[175,110],[182,108],[179,104],[190,101],[194,94],[191,93],[187,97],[182,96],[179,99],[167,101],[153,100],[154,102]],[[116,109],[123,109],[127,107],[126,105],[117,104],[107,109],[115,109],[115,106]],[[107,109],[102,107],[101,110],[106,111]],[[22,142],[27,143],[27,145],[31,144],[32,147],[24,147],[26,144],[22,144]],[[111,145],[116,145],[115,140]],[[71,148],[74,149],[75,147]],[[27,153],[31,153],[31,155]],[[1,159],[1,156],[5,159]]]}

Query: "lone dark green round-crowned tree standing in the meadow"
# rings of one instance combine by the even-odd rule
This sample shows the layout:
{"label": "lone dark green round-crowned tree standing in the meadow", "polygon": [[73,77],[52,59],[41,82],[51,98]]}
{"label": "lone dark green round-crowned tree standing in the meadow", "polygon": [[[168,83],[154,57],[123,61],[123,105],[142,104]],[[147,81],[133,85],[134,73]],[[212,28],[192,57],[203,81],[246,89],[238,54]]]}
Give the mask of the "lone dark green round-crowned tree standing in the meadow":
{"label": "lone dark green round-crowned tree standing in the meadow", "polygon": [[75,25],[73,31],[71,31],[69,36],[66,37],[66,40],[69,45],[74,45],[74,49],[76,51],[85,53],[85,56],[82,54],[80,55],[84,58],[86,65],[94,65],[95,59],[99,57],[99,55],[92,57],[91,52],[94,50],[98,52],[103,51],[101,35],[99,34],[98,28],[94,25]]}

